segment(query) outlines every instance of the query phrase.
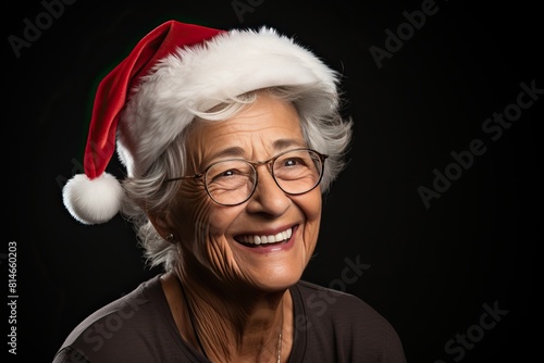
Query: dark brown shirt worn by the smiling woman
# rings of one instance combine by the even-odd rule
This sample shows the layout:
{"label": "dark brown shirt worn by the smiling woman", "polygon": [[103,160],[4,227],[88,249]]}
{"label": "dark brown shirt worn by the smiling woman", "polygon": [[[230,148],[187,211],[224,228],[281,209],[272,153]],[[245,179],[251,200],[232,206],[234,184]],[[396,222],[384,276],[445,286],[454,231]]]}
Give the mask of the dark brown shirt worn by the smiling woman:
{"label": "dark brown shirt worn by the smiling woman", "polygon": [[[299,281],[290,288],[288,362],[406,363],[392,325],[353,295]],[[66,338],[53,363],[207,362],[181,337],[159,276],[99,309]]]}

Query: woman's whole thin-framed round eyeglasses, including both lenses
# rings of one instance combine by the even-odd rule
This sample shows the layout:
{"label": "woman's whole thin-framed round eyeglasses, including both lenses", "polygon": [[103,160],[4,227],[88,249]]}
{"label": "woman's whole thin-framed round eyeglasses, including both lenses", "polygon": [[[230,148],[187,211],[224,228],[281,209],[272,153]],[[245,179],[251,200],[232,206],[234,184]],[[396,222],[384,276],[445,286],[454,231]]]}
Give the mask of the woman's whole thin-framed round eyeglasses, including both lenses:
{"label": "woman's whole thin-framed round eyeglasses, including both lenses", "polygon": [[218,161],[199,174],[169,178],[166,182],[203,178],[210,198],[218,204],[232,206],[244,203],[254,195],[259,182],[257,167],[267,165],[280,189],[287,195],[298,196],[321,183],[326,158],[316,150],[300,148],[265,161]]}

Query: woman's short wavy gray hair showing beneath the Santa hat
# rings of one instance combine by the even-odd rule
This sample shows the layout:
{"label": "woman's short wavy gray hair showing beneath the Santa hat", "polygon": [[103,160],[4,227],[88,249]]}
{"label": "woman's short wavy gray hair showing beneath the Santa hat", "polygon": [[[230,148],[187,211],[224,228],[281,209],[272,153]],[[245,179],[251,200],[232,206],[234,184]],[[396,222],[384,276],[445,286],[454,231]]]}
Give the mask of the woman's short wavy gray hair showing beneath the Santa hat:
{"label": "woman's short wavy gray hair showing beneath the Santa hat", "polygon": [[[308,147],[329,155],[320,185],[321,191],[326,192],[346,165],[353,121],[343,117],[341,97],[323,90],[319,84],[271,87],[233,97],[208,112],[195,111],[193,123],[227,120],[255,102],[257,95],[262,91],[290,102],[299,114]],[[186,130],[175,138],[143,177],[123,180],[125,197],[122,213],[133,223],[147,264],[151,267],[162,265],[165,271],[177,264],[178,250],[175,243],[159,236],[147,213],[168,212],[176,196],[181,182],[165,183],[165,179],[185,174],[188,160],[185,150]]]}

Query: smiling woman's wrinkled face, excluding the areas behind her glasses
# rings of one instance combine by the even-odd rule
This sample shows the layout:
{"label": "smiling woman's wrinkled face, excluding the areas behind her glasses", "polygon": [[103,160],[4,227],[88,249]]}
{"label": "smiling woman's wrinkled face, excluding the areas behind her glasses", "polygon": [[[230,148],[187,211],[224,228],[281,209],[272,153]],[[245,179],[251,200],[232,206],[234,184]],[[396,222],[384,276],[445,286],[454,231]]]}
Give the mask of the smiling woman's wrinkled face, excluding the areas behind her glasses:
{"label": "smiling woman's wrinkled face, excluding the areas behind her glasses", "polygon": [[[195,173],[221,160],[264,161],[307,147],[293,105],[265,93],[231,120],[195,125],[188,140]],[[317,187],[304,195],[286,195],[268,166],[258,166],[257,173],[255,193],[234,206],[212,201],[201,183],[183,183],[169,221],[186,253],[225,283],[282,289],[300,278],[313,253],[321,191]],[[248,242],[263,236],[268,243]]]}

